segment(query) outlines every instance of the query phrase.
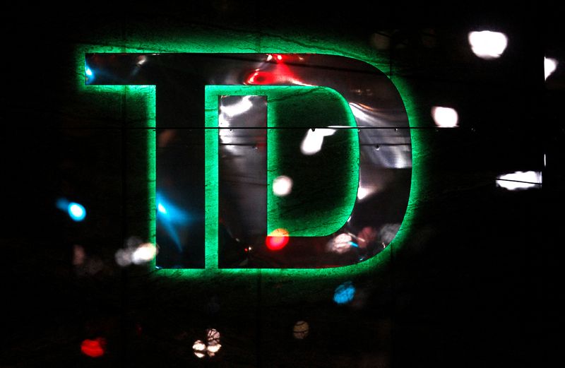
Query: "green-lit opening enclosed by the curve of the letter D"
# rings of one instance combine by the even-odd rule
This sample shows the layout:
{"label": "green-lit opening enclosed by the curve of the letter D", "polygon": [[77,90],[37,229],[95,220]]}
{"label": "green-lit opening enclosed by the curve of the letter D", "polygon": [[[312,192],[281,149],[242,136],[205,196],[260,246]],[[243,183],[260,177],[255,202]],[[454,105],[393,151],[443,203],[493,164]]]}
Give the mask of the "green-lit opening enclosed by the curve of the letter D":
{"label": "green-lit opening enclosed by the curve of the letter D", "polygon": [[[303,155],[298,148],[309,129],[356,127],[355,117],[343,96],[331,88],[292,86],[275,91],[268,95],[269,126],[297,129],[267,132],[267,233],[283,228],[296,237],[331,235],[350,218],[357,198],[359,135],[355,129],[335,129],[332,136],[323,138],[323,150],[316,155]],[[331,170],[317,170],[332,157],[339,160]],[[291,177],[298,191],[275,196],[272,184],[280,175]]]}

